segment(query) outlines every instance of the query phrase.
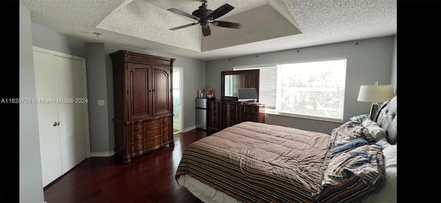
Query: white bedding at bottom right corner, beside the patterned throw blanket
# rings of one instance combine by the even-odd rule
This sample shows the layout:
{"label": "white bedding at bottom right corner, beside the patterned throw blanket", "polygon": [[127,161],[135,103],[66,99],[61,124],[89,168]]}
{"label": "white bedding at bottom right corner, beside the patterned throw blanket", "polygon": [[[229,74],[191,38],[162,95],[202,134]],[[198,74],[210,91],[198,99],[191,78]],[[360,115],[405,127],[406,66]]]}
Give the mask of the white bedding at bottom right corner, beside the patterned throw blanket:
{"label": "white bedding at bottom right corner, beside the patterned throw blanket", "polygon": [[365,197],[362,202],[397,202],[397,145],[384,148],[384,167],[386,169],[386,182],[377,193]]}

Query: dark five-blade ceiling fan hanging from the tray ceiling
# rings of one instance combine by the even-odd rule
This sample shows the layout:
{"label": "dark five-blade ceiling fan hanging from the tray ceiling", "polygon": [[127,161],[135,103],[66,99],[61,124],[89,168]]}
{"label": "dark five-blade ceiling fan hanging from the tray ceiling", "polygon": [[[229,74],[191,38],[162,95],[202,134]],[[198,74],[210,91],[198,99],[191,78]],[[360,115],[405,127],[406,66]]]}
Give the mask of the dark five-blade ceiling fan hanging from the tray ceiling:
{"label": "dark five-blade ceiling fan hanging from the tray ceiling", "polygon": [[207,8],[207,1],[203,0],[202,5],[199,6],[198,10],[194,10],[192,14],[189,14],[187,12],[183,12],[182,10],[178,10],[176,8],[170,8],[167,10],[170,10],[171,12],[174,12],[176,14],[183,15],[184,17],[189,17],[191,19],[195,19],[198,21],[197,23],[190,23],[187,25],[182,25],[176,28],[170,28],[169,30],[178,30],[181,28],[187,28],[192,25],[201,24],[202,27],[202,34],[203,36],[209,36],[212,34],[211,30],[209,30],[209,23],[212,23],[212,25],[224,27],[224,28],[235,28],[240,29],[242,27],[242,23],[232,23],[227,21],[216,21],[219,17],[222,17],[223,15],[227,14],[227,12],[230,12],[233,10],[234,7],[229,5],[228,3],[225,3],[223,6],[220,6],[216,10],[209,10]]}

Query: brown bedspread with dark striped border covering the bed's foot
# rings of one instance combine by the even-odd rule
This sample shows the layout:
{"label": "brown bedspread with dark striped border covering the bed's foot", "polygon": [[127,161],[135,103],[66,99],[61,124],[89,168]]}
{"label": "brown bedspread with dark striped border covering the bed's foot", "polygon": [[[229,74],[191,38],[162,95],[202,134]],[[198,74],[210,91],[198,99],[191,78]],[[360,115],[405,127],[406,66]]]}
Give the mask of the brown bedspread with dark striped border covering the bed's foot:
{"label": "brown bedspread with dark striped border covering the bed's foot", "polygon": [[330,142],[325,133],[242,122],[189,145],[176,180],[190,175],[241,202],[314,202]]}

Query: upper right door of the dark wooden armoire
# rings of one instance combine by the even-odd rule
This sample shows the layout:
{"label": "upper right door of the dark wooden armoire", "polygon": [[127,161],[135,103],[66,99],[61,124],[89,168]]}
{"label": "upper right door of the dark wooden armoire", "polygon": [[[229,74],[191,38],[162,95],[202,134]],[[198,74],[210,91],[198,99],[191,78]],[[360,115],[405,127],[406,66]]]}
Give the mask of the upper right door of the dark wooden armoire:
{"label": "upper right door of the dark wooden armoire", "polygon": [[172,105],[170,100],[172,98],[171,85],[172,78],[170,74],[170,67],[154,67],[154,115],[163,115],[172,113]]}

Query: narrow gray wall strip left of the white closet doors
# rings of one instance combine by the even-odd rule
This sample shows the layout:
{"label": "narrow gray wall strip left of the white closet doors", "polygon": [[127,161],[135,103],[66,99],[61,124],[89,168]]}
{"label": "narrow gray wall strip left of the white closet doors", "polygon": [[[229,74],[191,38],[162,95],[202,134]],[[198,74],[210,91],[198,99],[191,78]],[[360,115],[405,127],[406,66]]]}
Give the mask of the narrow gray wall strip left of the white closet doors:
{"label": "narrow gray wall strip left of the white closet doors", "polygon": [[[19,98],[37,98],[30,11],[20,6],[19,15]],[[37,103],[20,104],[19,121],[19,201],[44,202]]]}

